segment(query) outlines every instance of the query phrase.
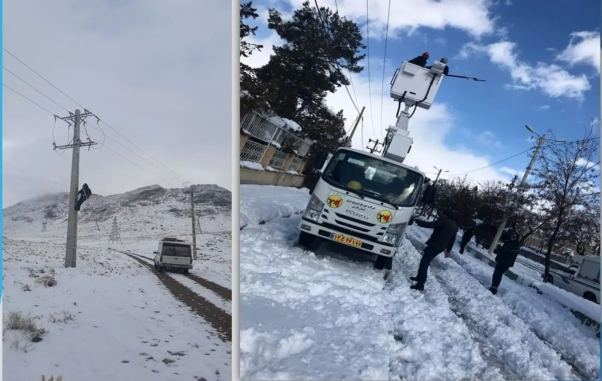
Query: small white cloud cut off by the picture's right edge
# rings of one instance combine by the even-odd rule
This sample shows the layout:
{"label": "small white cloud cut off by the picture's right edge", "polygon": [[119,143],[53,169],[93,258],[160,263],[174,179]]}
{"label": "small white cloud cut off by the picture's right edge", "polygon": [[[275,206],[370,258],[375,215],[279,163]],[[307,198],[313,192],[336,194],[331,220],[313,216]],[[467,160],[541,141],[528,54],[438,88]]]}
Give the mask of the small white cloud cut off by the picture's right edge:
{"label": "small white cloud cut off by the picture's right edge", "polygon": [[556,57],[571,65],[585,63],[594,67],[600,73],[600,32],[574,32],[571,40]]}

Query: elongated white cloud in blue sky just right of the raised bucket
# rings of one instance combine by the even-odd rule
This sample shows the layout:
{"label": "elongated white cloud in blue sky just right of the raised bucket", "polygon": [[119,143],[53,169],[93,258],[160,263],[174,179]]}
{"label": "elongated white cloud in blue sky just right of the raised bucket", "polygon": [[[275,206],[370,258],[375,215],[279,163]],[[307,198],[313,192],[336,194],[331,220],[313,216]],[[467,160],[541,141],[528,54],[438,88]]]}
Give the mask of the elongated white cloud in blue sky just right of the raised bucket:
{"label": "elongated white cloud in blue sky just right of the raised bucket", "polygon": [[539,90],[551,98],[582,100],[591,88],[586,75],[571,75],[555,64],[537,63],[532,66],[518,58],[517,44],[509,41],[480,45],[469,42],[462,47],[460,57],[487,54],[492,63],[509,70],[512,82],[506,87],[514,90]]}

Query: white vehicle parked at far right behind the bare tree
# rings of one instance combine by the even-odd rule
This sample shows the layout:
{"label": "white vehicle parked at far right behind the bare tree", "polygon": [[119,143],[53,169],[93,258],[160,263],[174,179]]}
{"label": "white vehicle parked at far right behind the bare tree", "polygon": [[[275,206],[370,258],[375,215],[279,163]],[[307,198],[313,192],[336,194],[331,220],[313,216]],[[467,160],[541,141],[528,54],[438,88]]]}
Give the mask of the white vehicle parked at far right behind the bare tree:
{"label": "white vehicle parked at far right behind the bare tree", "polygon": [[583,299],[600,304],[600,257],[579,255],[563,270],[550,268],[548,282]]}

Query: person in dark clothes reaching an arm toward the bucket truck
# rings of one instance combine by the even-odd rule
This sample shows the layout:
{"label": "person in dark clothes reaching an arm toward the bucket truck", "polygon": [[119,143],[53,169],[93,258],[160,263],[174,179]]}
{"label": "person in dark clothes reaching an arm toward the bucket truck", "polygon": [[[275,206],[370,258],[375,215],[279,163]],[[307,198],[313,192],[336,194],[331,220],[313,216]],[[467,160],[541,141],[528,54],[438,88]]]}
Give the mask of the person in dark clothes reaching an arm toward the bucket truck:
{"label": "person in dark clothes reaching an arm toward the bucket truck", "polygon": [[436,256],[441,254],[445,250],[445,256],[449,256],[452,251],[453,244],[456,242],[456,234],[458,234],[458,225],[453,220],[453,212],[446,210],[443,212],[443,217],[435,221],[422,221],[416,220],[416,225],[421,228],[432,228],[433,234],[430,235],[429,240],[426,241],[426,247],[420,259],[420,265],[418,265],[417,276],[410,277],[410,280],[416,282],[410,288],[412,290],[424,290],[424,283],[426,283],[426,274],[429,270],[430,261],[435,259]]}

